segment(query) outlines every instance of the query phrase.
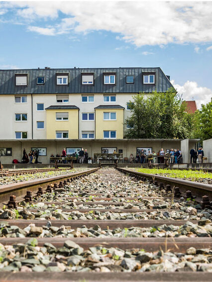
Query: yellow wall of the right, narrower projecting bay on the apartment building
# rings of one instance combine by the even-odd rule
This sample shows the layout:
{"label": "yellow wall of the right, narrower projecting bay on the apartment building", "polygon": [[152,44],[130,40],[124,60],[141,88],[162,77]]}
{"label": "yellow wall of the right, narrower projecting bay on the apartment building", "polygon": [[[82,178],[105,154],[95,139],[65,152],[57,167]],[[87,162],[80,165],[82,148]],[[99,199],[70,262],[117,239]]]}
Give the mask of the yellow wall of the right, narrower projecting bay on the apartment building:
{"label": "yellow wall of the right, narrower projecting bay on the apartment building", "polygon": [[[116,113],[116,120],[104,121],[104,113]],[[123,139],[123,109],[96,109],[96,139],[104,139],[104,131],[116,131],[116,139]]]}

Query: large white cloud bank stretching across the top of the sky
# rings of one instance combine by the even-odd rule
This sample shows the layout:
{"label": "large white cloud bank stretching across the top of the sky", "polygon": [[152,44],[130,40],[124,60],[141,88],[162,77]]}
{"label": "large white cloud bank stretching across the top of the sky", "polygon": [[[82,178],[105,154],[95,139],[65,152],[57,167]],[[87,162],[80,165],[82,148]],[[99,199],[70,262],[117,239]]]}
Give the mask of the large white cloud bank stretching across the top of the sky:
{"label": "large white cloud bank stretching across the top of the sky", "polygon": [[19,21],[58,20],[63,13],[65,19],[55,23],[54,34],[105,30],[137,47],[212,41],[211,1],[28,1],[4,2],[2,7],[13,8]]}

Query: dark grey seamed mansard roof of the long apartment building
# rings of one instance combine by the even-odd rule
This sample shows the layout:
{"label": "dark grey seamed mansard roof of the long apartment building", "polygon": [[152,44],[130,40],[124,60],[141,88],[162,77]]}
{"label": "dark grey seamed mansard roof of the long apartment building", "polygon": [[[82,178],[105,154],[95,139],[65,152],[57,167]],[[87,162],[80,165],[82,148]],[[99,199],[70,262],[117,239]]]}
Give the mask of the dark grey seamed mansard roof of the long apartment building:
{"label": "dark grey seamed mansard roof of the long apartment building", "polygon": [[[83,72],[94,72],[94,85],[82,85]],[[116,84],[104,84],[105,72],[116,73]],[[143,84],[143,72],[155,72],[155,84]],[[28,73],[28,85],[16,86],[15,73]],[[69,73],[69,84],[56,85],[56,73]],[[126,83],[126,75],[134,75],[134,83]],[[45,76],[45,84],[37,84],[38,76]],[[0,94],[148,93],[155,89],[165,92],[170,87],[173,85],[160,68],[0,70]]]}

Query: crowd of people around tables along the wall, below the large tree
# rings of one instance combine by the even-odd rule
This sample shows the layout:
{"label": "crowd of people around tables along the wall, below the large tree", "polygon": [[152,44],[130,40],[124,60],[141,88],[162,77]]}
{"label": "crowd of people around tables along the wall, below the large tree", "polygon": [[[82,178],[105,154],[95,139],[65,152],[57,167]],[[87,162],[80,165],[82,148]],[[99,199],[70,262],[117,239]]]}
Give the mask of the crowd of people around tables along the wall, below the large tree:
{"label": "crowd of people around tables along the wall, below the large tree", "polygon": [[[166,152],[170,154],[170,163],[180,163],[182,159],[182,152],[180,149],[171,149],[167,150]],[[129,162],[147,163],[149,160],[151,160],[152,163],[155,163],[156,157],[158,163],[164,163],[165,152],[163,148],[161,148],[157,153],[155,151],[151,152],[150,150],[144,151],[144,149],[141,149],[140,153],[137,153],[135,158],[133,154],[130,154]]]}

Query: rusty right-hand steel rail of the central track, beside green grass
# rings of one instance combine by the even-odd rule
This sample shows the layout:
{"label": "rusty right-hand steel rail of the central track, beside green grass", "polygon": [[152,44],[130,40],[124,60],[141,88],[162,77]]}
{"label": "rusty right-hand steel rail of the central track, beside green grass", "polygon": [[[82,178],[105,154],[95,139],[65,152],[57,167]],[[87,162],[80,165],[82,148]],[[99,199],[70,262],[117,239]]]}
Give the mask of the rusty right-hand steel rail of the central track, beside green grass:
{"label": "rusty right-hand steel rail of the central track, beside green grass", "polygon": [[194,192],[194,194],[197,197],[203,197],[207,195],[210,201],[212,201],[212,185],[211,184],[188,181],[188,180],[183,180],[179,178],[171,178],[171,177],[166,177],[166,176],[161,176],[161,175],[156,175],[156,174],[143,173],[143,172],[133,171],[130,169],[119,168],[119,167],[117,167],[116,169],[125,174],[128,173],[131,176],[135,176],[138,178],[145,177],[150,180],[154,180],[154,181],[156,180],[164,184],[169,184],[171,185],[171,187],[179,187],[181,191],[183,192],[191,190],[192,192]]}

